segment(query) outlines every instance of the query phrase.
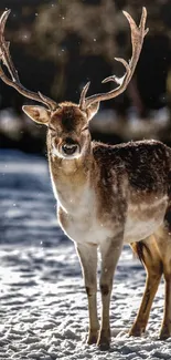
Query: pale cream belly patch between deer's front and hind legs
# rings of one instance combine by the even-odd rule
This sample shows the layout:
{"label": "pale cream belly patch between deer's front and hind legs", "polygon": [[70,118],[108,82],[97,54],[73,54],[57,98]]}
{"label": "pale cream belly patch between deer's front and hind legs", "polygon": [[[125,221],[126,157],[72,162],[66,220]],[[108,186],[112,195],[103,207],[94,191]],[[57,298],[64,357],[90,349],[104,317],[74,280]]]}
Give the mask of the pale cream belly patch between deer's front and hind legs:
{"label": "pale cream belly patch between deer's front and hind legs", "polygon": [[150,236],[162,224],[167,197],[152,204],[130,205],[125,226],[125,243],[139,241]]}

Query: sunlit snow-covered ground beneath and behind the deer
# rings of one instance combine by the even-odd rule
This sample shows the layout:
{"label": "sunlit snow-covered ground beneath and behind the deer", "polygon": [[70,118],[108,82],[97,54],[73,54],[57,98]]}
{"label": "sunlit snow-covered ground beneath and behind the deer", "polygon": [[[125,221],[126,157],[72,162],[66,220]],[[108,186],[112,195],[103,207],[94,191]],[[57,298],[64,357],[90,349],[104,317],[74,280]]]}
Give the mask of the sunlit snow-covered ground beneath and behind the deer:
{"label": "sunlit snow-covered ground beneath and behind the deer", "polygon": [[[158,340],[163,285],[146,337],[127,337],[143,284],[145,271],[126,247],[113,292],[111,350],[85,344],[81,267],[73,243],[57,227],[46,162],[0,152],[0,360],[171,359],[171,340]],[[99,300],[98,294],[100,311]]]}

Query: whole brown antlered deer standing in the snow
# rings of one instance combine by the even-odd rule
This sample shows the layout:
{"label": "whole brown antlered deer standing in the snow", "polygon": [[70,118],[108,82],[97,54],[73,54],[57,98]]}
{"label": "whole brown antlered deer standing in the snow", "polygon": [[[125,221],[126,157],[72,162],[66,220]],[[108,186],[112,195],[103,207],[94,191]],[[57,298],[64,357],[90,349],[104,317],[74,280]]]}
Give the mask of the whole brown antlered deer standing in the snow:
{"label": "whole brown antlered deer standing in the snow", "polygon": [[[124,11],[131,32],[129,62],[116,58],[126,69],[124,76],[103,82],[118,86],[107,93],[87,96],[89,82],[79,103],[62,102],[26,90],[20,82],[4,39],[10,10],[0,19],[0,78],[23,96],[41,105],[23,105],[23,112],[47,127],[50,175],[57,203],[58,223],[75,244],[88,300],[87,343],[108,350],[111,342],[109,308],[115,270],[125,244],[130,245],[145,266],[145,292],[129,336],[140,337],[147,328],[150,309],[161,277],[164,277],[164,313],[160,339],[171,336],[171,150],[154,140],[118,145],[93,142],[89,122],[101,101],[121,94],[130,82],[140,56],[147,10],[139,25]],[[4,72],[6,68],[8,70]],[[42,105],[43,104],[43,105]],[[97,254],[100,254],[100,325],[97,312]]]}

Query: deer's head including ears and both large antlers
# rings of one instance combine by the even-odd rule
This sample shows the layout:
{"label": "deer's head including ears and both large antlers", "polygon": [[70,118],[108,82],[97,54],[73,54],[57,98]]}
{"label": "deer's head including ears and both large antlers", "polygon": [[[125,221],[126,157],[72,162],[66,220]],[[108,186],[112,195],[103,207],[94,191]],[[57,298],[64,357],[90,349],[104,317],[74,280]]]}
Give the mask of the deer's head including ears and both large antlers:
{"label": "deer's head including ears and both large antlers", "polygon": [[118,84],[118,88],[108,93],[95,94],[86,97],[89,88],[89,83],[87,83],[82,91],[78,105],[70,102],[57,104],[55,101],[42,95],[40,92],[34,93],[29,91],[21,84],[18,72],[10,56],[10,44],[4,40],[3,35],[9,13],[10,10],[4,11],[0,19],[0,62],[7,66],[11,79],[7,76],[1,64],[0,78],[25,97],[43,103],[43,106],[24,105],[23,111],[33,121],[47,126],[47,144],[51,146],[53,154],[65,158],[79,157],[90,142],[88,122],[97,113],[99,102],[116,97],[122,93],[133,74],[141,52],[143,38],[148,32],[148,29],[145,29],[147,18],[146,8],[142,9],[139,27],[137,27],[129,13],[124,11],[131,30],[132,56],[129,63],[124,59],[116,58],[116,60],[121,62],[126,68],[126,73],[122,78],[118,79],[113,75],[103,81],[114,81]]}

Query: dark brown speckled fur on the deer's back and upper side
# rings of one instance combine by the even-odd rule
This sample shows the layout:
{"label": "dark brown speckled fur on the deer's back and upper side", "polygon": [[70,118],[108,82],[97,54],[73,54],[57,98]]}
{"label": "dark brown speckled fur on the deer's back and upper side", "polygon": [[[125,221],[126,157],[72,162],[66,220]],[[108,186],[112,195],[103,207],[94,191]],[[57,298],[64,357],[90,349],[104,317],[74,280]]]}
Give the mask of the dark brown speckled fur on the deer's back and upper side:
{"label": "dark brown speckled fur on the deer's back and upper side", "polygon": [[106,185],[119,187],[127,178],[132,191],[167,193],[170,191],[171,150],[158,141],[129,142],[119,145],[94,144],[94,157]]}

